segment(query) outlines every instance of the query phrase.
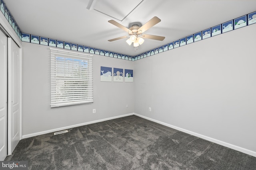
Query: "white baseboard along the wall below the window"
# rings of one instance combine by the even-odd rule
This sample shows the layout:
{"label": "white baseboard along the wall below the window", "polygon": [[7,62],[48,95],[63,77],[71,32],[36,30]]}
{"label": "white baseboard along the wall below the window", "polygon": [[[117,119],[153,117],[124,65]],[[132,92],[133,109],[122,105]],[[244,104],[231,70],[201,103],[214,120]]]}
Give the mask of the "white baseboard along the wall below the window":
{"label": "white baseboard along the wall below the window", "polygon": [[31,134],[28,134],[28,135],[23,135],[23,136],[22,136],[22,139],[29,138],[29,137],[34,137],[34,136],[38,136],[38,135],[44,135],[44,134],[46,134],[46,133],[52,133],[52,132],[56,132],[56,131],[62,131],[62,130],[64,130],[64,129],[70,129],[70,128],[73,128],[73,127],[79,127],[79,126],[89,125],[89,124],[92,124],[92,123],[98,123],[98,122],[101,122],[101,121],[107,121],[107,120],[112,120],[112,119],[116,119],[116,118],[120,118],[120,117],[126,117],[126,116],[130,116],[130,115],[134,115],[134,113],[129,113],[129,114],[126,114],[126,115],[120,115],[120,116],[115,116],[115,117],[109,117],[109,118],[106,118],[106,119],[100,119],[100,120],[96,120],[96,121],[89,121],[89,122],[86,122],[86,123],[80,123],[80,124],[70,125],[70,126],[66,126],[66,127],[60,127],[60,128],[51,129],[51,130],[48,130],[48,131],[42,131],[42,132],[37,132],[37,133],[31,133]]}

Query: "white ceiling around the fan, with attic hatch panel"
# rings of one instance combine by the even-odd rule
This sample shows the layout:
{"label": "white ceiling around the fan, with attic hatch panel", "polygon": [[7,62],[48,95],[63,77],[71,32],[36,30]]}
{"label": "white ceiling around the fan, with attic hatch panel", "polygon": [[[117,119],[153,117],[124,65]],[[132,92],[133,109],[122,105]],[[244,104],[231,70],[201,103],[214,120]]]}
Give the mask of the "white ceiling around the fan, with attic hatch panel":
{"label": "white ceiling around the fan, with attic hatch panel", "polygon": [[[131,56],[256,11],[256,0],[4,0],[4,2],[23,33]],[[126,39],[108,41],[128,35],[124,30],[108,23],[108,20],[115,20],[129,27],[130,23],[134,22],[143,25],[154,16],[162,21],[145,33],[164,36],[166,37],[164,41],[145,39],[136,51],[132,45],[126,43]]]}

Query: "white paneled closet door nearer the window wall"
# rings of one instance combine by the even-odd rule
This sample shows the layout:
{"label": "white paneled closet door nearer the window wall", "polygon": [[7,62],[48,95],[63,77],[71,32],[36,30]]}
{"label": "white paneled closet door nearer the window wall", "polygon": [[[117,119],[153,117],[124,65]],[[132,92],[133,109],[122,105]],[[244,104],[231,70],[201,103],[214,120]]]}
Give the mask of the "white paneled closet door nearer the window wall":
{"label": "white paneled closet door nearer the window wall", "polygon": [[20,141],[21,49],[8,38],[8,155]]}

